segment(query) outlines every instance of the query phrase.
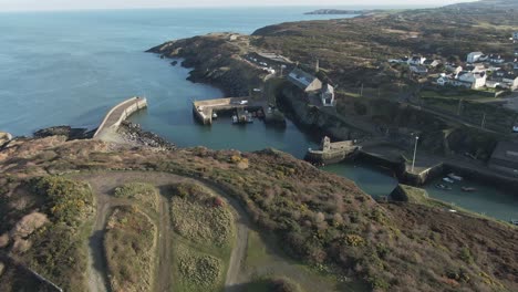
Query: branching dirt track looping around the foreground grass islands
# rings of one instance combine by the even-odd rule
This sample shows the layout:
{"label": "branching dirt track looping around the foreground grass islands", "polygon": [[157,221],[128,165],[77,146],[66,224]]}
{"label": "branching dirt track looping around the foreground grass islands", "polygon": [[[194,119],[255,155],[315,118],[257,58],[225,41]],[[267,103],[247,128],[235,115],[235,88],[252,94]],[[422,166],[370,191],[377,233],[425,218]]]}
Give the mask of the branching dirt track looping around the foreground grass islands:
{"label": "branching dirt track looping around the foreground grass islands", "polygon": [[224,197],[232,208],[236,225],[236,242],[232,249],[227,278],[225,281],[226,291],[235,291],[239,283],[239,275],[242,271],[247,246],[249,219],[245,209],[237,200],[229,197],[220,188],[210,181],[200,181],[165,173],[101,173],[74,176],[76,179],[85,180],[92,186],[97,198],[97,213],[89,249],[89,288],[90,291],[110,291],[107,279],[108,270],[104,254],[104,228],[107,216],[112,208],[116,206],[131,205],[128,200],[117,199],[111,196],[111,191],[121,185],[132,181],[146,181],[160,190],[159,196],[159,220],[158,220],[158,242],[157,242],[157,271],[155,277],[155,289],[159,292],[172,291],[172,237],[170,213],[168,198],[165,187],[180,181],[197,182],[216,195]]}

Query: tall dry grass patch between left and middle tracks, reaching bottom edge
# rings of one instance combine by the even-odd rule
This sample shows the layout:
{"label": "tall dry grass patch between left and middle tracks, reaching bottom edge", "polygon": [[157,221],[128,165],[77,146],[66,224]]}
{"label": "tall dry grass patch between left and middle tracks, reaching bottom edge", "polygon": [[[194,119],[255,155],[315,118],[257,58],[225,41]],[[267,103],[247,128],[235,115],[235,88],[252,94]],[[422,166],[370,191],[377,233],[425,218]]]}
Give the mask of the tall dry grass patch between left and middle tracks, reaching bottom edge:
{"label": "tall dry grass patch between left and middle tracks, reaching bottom edge", "polygon": [[104,240],[113,291],[152,291],[156,227],[136,207],[118,207]]}

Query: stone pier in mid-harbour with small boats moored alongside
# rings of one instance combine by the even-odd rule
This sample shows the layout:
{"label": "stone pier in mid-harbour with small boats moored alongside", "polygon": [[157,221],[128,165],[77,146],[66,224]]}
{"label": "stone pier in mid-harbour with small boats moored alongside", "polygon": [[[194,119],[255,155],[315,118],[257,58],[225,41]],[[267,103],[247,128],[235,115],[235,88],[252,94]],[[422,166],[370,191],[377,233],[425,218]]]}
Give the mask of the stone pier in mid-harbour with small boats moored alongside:
{"label": "stone pier in mid-harbour with small boats moored alongside", "polygon": [[227,97],[206,101],[193,102],[193,114],[196,119],[203,125],[211,125],[215,113],[236,113],[238,122],[247,119],[246,111],[259,111],[263,114],[265,122],[284,121],[284,117],[279,117],[277,111],[272,111],[268,106],[267,101],[250,97]]}

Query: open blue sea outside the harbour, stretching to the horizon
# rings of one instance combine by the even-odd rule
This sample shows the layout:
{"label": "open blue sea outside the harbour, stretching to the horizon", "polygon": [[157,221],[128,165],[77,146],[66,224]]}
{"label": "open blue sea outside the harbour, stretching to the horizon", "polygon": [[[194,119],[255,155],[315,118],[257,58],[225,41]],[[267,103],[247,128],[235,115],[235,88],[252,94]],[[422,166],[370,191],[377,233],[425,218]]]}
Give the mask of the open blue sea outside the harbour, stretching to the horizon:
{"label": "open blue sea outside the harbour, stretching to the horizon", "polygon": [[[0,13],[0,129],[30,135],[70,124],[97,125],[106,109],[134,95],[153,108],[167,100],[220,96],[185,81],[145,50],[215,31],[251,33],[283,21],[327,19],[290,9],[165,9]],[[173,121],[175,109],[169,108]],[[182,143],[180,143],[182,144]]]}

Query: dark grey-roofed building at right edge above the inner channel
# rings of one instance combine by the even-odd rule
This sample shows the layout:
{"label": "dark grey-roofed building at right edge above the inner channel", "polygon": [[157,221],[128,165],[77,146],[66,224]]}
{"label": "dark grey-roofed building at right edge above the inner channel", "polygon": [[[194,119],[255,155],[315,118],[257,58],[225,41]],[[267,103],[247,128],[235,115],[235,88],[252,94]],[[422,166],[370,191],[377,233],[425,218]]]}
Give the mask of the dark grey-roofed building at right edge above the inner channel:
{"label": "dark grey-roofed building at right edge above the inner channel", "polygon": [[518,176],[518,144],[499,142],[488,163],[489,168]]}

